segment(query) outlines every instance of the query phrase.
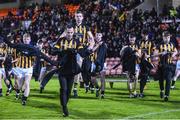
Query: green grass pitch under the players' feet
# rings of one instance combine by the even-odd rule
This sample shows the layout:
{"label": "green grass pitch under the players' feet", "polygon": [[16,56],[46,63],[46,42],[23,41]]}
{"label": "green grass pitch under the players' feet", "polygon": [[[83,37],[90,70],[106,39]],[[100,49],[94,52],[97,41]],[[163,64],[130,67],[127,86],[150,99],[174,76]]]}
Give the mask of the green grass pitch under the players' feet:
{"label": "green grass pitch under the players' feet", "polygon": [[[95,94],[85,94],[79,89],[79,98],[72,98],[67,119],[180,119],[180,82],[171,90],[169,102],[159,97],[158,82],[151,81],[145,90],[145,98],[129,98],[125,82],[114,84],[107,89],[105,99]],[[5,88],[5,87],[4,87]],[[4,89],[5,95],[5,89]],[[0,97],[0,119],[62,119],[59,102],[59,82],[53,79],[44,93],[39,93],[39,84],[31,81],[31,93],[26,106],[15,100],[15,93]]]}

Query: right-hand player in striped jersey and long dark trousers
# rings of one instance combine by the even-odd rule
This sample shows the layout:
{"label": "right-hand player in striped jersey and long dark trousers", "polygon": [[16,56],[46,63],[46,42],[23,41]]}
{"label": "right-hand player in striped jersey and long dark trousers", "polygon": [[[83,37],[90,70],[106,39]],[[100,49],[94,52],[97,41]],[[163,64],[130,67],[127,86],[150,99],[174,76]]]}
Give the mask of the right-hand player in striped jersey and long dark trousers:
{"label": "right-hand player in striped jersey and long dark trousers", "polygon": [[[163,42],[158,46],[158,51],[161,54],[159,59],[159,86],[160,86],[160,97],[164,101],[169,100],[171,80],[175,73],[175,65],[173,65],[172,58],[177,54],[177,49],[170,42],[171,35],[168,31],[164,31],[162,34]],[[166,84],[164,86],[164,80]],[[164,92],[165,88],[165,92]]]}

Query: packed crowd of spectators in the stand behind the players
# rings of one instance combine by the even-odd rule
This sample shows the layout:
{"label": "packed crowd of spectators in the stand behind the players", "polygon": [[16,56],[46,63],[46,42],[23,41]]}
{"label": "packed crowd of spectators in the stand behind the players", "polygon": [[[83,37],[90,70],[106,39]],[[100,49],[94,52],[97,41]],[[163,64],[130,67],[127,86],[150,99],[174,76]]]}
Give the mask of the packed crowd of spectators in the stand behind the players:
{"label": "packed crowd of spectators in the stand behind the players", "polygon": [[[148,30],[150,39],[157,44],[161,41],[162,31],[169,30],[176,44],[175,36],[180,29],[176,20],[180,19],[180,7],[175,9],[164,6],[163,14],[160,15],[157,15],[154,8],[151,11],[135,9],[131,14],[128,10],[143,2],[142,0],[100,0],[99,2],[79,0],[79,2],[81,2],[79,10],[84,13],[86,24],[91,27],[92,32],[95,33],[97,27],[102,31],[109,48],[108,57],[119,55],[122,46],[127,44],[129,33],[133,32],[139,42],[143,29]],[[168,24],[162,22],[167,19],[173,21]],[[11,31],[16,42],[21,42],[22,35],[28,32],[31,34],[32,44],[36,44],[42,38],[52,42],[59,38],[66,23],[73,20],[73,16],[68,15],[68,10],[63,5],[32,4],[20,8],[16,16],[9,13],[8,16],[1,18],[0,27],[3,28],[1,34]]]}

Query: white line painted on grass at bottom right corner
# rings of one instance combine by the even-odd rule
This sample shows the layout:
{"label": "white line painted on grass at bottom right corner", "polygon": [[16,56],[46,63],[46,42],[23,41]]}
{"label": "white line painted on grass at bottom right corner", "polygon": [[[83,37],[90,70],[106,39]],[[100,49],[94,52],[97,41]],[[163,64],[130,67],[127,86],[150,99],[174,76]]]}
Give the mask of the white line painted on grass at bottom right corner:
{"label": "white line painted on grass at bottom right corner", "polygon": [[150,116],[150,115],[158,115],[158,114],[169,113],[169,112],[177,112],[177,111],[180,111],[180,109],[166,110],[166,111],[163,111],[163,112],[151,112],[151,113],[147,113],[147,114],[128,116],[128,117],[125,117],[125,118],[122,118],[122,119],[133,119],[133,118],[145,117],[145,116]]}

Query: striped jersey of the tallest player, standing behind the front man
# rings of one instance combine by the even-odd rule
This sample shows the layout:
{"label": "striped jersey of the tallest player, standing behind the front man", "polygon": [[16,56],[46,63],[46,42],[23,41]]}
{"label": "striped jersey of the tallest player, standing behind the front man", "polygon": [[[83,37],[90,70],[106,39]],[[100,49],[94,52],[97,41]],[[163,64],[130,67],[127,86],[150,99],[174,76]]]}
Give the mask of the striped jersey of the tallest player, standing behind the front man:
{"label": "striped jersey of the tallest player, standing behind the front man", "polygon": [[90,31],[89,27],[85,24],[81,24],[81,25],[75,25],[74,26],[74,30],[75,30],[75,35],[78,37],[80,43],[87,45],[87,38],[88,38],[88,34],[87,32]]}

